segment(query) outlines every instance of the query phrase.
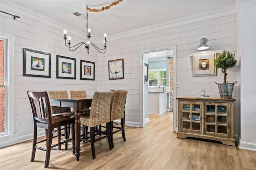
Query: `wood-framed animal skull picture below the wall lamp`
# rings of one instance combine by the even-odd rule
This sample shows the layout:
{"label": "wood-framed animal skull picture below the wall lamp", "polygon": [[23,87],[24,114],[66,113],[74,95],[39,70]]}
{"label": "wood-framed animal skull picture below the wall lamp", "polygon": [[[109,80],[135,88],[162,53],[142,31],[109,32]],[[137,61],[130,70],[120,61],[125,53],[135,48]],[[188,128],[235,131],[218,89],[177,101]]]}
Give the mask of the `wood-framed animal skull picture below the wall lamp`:
{"label": "wood-framed animal skull picture below the wall lamp", "polygon": [[216,76],[216,52],[193,54],[193,76]]}

